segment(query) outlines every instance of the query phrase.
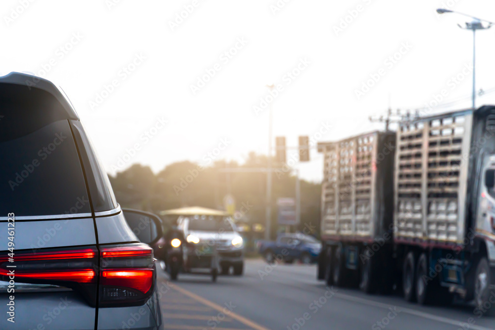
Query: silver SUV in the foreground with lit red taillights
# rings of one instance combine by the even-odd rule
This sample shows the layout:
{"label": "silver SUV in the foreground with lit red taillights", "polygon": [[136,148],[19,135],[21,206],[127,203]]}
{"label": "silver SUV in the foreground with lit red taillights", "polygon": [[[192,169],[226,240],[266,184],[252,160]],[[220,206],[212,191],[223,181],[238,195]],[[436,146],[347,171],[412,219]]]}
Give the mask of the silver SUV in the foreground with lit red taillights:
{"label": "silver SUV in the foreground with lit red taillights", "polygon": [[120,208],[49,81],[0,77],[0,159],[0,329],[161,329],[160,219]]}

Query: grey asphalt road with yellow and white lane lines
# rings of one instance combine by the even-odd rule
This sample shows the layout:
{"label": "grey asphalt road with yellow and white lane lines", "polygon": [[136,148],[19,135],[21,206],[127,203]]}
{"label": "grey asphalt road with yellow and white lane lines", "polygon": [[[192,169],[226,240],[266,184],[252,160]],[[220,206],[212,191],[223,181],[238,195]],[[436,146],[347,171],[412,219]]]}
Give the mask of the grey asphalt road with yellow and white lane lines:
{"label": "grey asphalt road with yellow and white lane lines", "polygon": [[243,277],[183,275],[168,282],[159,273],[165,329],[495,329],[495,318],[478,318],[473,306],[423,307],[398,296],[366,295],[326,287],[316,266],[247,260]]}

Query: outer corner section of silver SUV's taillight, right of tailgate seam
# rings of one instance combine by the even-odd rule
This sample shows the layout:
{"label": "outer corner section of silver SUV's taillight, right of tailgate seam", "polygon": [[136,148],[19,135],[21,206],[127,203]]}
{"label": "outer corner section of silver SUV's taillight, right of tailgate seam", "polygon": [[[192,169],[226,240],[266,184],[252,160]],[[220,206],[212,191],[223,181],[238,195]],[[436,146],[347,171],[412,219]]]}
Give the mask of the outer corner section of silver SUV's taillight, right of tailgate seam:
{"label": "outer corner section of silver SUV's taillight, right of tailgate seam", "polygon": [[153,292],[153,249],[137,243],[101,248],[99,306],[137,305]]}

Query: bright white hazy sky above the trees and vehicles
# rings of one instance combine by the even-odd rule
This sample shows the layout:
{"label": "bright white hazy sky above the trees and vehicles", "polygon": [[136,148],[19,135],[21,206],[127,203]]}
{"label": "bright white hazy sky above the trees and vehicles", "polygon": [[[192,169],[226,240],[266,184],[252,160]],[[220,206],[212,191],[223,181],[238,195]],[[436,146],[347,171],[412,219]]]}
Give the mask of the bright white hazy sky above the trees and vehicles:
{"label": "bright white hazy sky above the trees and vehicles", "polygon": [[[435,97],[461,101],[434,112],[470,106],[472,33],[456,25],[470,19],[435,9],[495,21],[495,2],[286,1],[3,0],[0,75],[30,72],[61,86],[111,174],[266,153],[260,102],[271,83],[281,90],[274,137],[291,146],[299,135],[330,141],[383,128],[367,118],[388,108],[389,95],[394,109]],[[494,40],[495,28],[477,33],[477,89],[495,88]],[[477,101],[490,103],[495,93]],[[321,180],[316,151],[299,166],[304,179]]]}

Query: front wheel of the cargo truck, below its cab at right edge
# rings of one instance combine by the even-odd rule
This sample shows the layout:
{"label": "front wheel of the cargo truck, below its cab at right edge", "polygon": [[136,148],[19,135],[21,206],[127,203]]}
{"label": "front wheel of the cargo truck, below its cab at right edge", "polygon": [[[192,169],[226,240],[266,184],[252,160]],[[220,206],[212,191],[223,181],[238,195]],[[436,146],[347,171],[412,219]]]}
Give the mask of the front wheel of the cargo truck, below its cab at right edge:
{"label": "front wheel of the cargo truck, below its cab at right edge", "polygon": [[483,257],[478,262],[476,267],[476,277],[474,279],[474,303],[485,315],[495,316],[495,306],[490,301],[490,267],[488,266],[488,260]]}

